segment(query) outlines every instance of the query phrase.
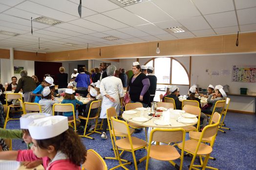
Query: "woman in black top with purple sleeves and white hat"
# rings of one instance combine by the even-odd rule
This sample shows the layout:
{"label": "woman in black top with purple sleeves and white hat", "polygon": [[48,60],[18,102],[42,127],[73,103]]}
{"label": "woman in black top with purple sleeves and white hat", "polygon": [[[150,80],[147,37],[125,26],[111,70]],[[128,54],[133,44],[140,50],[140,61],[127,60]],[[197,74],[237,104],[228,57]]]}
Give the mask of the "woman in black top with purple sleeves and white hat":
{"label": "woman in black top with purple sleeves and white hat", "polygon": [[132,66],[133,75],[131,76],[128,84],[128,94],[131,102],[141,102],[143,107],[149,104],[149,78],[141,72],[139,62],[133,62]]}

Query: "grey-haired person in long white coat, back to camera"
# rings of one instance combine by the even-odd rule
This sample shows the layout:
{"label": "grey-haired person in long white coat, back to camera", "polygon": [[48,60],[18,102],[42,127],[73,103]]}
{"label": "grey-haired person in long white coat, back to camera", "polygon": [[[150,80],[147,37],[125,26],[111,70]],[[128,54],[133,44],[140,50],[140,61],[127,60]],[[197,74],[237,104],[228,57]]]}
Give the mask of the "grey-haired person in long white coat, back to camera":
{"label": "grey-haired person in long white coat, back to camera", "polygon": [[116,113],[119,113],[120,98],[123,98],[124,88],[121,79],[114,76],[116,67],[109,66],[107,68],[107,76],[102,79],[100,84],[100,92],[103,97],[100,118],[103,119],[103,133],[101,138],[107,139],[107,109],[115,107]]}

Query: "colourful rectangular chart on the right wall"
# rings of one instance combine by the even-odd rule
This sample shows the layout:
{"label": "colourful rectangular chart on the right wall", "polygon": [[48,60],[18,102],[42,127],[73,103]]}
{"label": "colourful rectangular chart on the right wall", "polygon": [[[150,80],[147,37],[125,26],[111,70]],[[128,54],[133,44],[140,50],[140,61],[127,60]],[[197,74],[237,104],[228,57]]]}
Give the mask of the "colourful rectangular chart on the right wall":
{"label": "colourful rectangular chart on the right wall", "polygon": [[233,66],[232,81],[256,83],[256,66]]}

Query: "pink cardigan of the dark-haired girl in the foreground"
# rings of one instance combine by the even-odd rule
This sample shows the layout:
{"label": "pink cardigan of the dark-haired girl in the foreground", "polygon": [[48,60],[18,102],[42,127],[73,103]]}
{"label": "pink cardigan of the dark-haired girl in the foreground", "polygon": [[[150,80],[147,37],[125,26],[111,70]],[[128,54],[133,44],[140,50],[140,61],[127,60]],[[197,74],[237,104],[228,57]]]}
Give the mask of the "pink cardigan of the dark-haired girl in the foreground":
{"label": "pink cardigan of the dark-haired girl in the foreground", "polygon": [[49,165],[50,158],[48,157],[38,158],[32,150],[18,151],[17,161],[35,161],[38,159],[43,160],[45,170],[81,170],[81,167],[74,165],[69,159],[56,160]]}

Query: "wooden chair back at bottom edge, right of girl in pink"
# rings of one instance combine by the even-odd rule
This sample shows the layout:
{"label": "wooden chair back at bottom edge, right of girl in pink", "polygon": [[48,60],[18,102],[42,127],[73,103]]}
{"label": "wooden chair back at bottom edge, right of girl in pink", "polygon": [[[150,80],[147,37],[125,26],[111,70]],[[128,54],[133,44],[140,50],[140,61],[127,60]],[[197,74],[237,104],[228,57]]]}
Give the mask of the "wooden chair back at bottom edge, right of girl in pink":
{"label": "wooden chair back at bottom edge, right of girl in pink", "polygon": [[89,149],[82,170],[107,170],[107,164],[99,153]]}

